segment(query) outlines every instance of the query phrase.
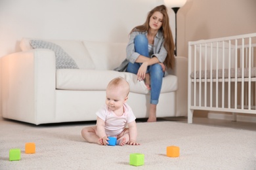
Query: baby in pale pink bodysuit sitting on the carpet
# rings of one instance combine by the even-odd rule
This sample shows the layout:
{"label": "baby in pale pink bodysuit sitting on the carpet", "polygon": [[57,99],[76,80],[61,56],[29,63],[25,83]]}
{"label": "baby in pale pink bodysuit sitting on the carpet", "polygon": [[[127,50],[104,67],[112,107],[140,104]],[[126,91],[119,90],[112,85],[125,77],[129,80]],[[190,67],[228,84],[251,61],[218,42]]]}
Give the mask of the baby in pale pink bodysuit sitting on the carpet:
{"label": "baby in pale pink bodysuit sitting on the carpet", "polygon": [[[139,145],[135,115],[126,101],[129,84],[121,77],[114,78],[106,88],[106,105],[96,112],[96,126],[84,127],[82,137],[89,143],[108,144],[108,136],[117,137],[117,144]],[[127,127],[128,125],[128,127]]]}

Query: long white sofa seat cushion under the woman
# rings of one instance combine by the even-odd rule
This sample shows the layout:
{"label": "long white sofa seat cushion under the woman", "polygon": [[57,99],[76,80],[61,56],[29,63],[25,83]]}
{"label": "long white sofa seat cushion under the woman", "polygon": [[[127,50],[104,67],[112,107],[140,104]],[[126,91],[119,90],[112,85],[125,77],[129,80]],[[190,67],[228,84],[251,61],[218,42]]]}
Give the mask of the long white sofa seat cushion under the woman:
{"label": "long white sofa seat cushion under the woman", "polygon": [[[110,70],[58,69],[56,88],[61,90],[106,90],[108,82],[117,76],[121,76],[129,82],[130,92],[149,93],[144,82],[137,80],[137,75]],[[165,76],[161,93],[174,92],[175,90],[177,90],[177,76]]]}

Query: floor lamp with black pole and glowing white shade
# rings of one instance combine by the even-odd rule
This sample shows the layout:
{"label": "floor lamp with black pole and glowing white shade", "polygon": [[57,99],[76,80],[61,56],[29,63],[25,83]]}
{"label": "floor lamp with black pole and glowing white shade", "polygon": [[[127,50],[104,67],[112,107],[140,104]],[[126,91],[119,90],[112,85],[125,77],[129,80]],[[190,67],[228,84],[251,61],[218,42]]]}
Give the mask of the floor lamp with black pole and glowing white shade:
{"label": "floor lamp with black pole and glowing white shade", "polygon": [[170,7],[175,12],[175,51],[174,55],[177,56],[177,12],[186,3],[186,0],[164,0],[167,7]]}

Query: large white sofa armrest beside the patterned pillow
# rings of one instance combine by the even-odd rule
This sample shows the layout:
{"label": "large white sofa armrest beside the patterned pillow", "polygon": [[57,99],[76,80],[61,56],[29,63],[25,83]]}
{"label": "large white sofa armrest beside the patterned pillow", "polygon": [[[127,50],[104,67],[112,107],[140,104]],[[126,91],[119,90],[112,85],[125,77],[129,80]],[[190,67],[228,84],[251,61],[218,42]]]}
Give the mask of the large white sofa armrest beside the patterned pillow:
{"label": "large white sofa armrest beside the patterned pillow", "polygon": [[33,124],[52,120],[56,87],[54,52],[35,49],[9,54],[1,60],[3,117]]}

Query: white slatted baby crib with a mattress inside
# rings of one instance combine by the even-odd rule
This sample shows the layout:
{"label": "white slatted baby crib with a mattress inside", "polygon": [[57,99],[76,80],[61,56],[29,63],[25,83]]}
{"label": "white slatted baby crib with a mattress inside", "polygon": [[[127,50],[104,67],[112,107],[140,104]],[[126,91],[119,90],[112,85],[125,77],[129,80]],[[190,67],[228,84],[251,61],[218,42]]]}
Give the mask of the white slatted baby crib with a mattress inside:
{"label": "white slatted baby crib with a mattress inside", "polygon": [[188,42],[188,123],[194,110],[256,114],[256,33]]}

